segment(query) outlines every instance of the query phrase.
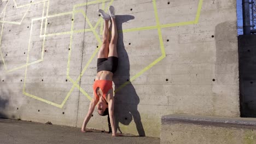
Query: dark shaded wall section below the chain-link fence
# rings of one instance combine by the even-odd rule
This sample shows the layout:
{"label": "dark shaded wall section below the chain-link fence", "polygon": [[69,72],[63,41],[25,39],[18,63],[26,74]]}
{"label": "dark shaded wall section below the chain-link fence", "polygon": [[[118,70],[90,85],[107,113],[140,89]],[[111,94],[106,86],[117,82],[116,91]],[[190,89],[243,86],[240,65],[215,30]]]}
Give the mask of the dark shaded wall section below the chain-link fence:
{"label": "dark shaded wall section below the chain-link fence", "polygon": [[256,35],[238,37],[240,101],[243,117],[256,117],[255,48]]}

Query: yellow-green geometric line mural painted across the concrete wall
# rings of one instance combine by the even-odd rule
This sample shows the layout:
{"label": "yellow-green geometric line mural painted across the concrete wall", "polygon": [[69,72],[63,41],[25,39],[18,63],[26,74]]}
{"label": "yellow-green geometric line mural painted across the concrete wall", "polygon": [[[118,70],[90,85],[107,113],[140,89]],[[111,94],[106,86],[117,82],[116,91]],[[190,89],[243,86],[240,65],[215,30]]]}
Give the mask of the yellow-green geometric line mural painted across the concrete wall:
{"label": "yellow-green geometric line mural painted across the concrete wall", "polygon": [[[7,1],[7,3],[9,2],[8,0],[2,0],[2,2],[4,1]],[[36,3],[44,3],[44,7],[43,7],[43,14],[42,14],[42,17],[38,17],[38,18],[35,18],[35,19],[32,19],[31,21],[31,32],[30,32],[30,39],[29,39],[29,44],[28,44],[28,53],[27,53],[27,62],[25,65],[22,65],[18,68],[15,68],[15,69],[12,69],[12,70],[8,70],[8,72],[10,71],[14,71],[14,70],[17,70],[17,69],[20,69],[20,68],[24,68],[26,67],[26,70],[25,70],[25,81],[24,81],[24,87],[23,87],[23,93],[25,95],[27,95],[28,97],[31,97],[31,98],[34,98],[34,99],[37,99],[37,100],[40,100],[40,101],[43,101],[44,103],[47,103],[47,104],[50,104],[50,105],[53,105],[53,106],[56,106],[56,107],[60,107],[62,108],[63,105],[65,105],[67,99],[70,97],[71,93],[74,91],[74,88],[78,88],[80,92],[82,92],[86,98],[88,98],[89,100],[91,100],[92,98],[90,97],[90,95],[88,93],[86,93],[84,91],[83,88],[81,88],[79,85],[78,85],[78,82],[80,81],[81,77],[83,76],[83,74],[85,73],[86,69],[89,67],[89,64],[91,63],[92,59],[94,59],[94,57],[96,56],[98,50],[100,49],[100,47],[102,46],[102,41],[101,41],[101,38],[100,36],[96,33],[96,28],[98,27],[98,25],[100,25],[100,31],[102,32],[102,28],[103,28],[103,20],[102,19],[98,19],[98,21],[96,22],[96,25],[95,26],[92,26],[90,20],[88,19],[88,17],[86,16],[85,14],[85,11],[84,10],[76,10],[76,8],[79,8],[79,7],[83,7],[85,5],[90,5],[90,4],[97,4],[97,3],[102,3],[102,9],[104,9],[105,7],[105,3],[106,2],[109,2],[108,6],[111,5],[113,3],[114,0],[110,0],[110,1],[107,1],[107,0],[96,0],[96,1],[91,1],[91,2],[87,2],[87,3],[81,3],[81,4],[76,4],[73,6],[73,11],[68,11],[68,12],[65,12],[65,13],[60,13],[60,14],[55,14],[55,15],[48,15],[48,12],[49,12],[49,3],[50,1],[39,1],[39,2],[32,2],[31,4],[25,4],[25,5],[21,5],[21,6],[17,6],[15,5],[16,8],[21,8],[21,7],[29,7],[32,5],[32,4],[36,4]],[[46,8],[46,16],[44,16],[44,10],[45,10],[45,2],[48,2],[47,3],[47,8]],[[162,59],[164,59],[166,57],[166,54],[165,54],[165,47],[164,47],[164,42],[162,40],[162,32],[161,32],[161,29],[162,28],[167,28],[167,27],[175,27],[175,26],[185,26],[185,25],[193,25],[193,24],[196,24],[199,22],[199,17],[200,17],[200,14],[201,14],[201,8],[202,8],[202,0],[199,0],[199,4],[198,4],[198,8],[197,8],[197,13],[196,13],[196,17],[195,17],[195,20],[194,21],[188,21],[188,22],[178,22],[178,23],[168,23],[168,24],[165,24],[165,25],[161,25],[160,21],[159,21],[159,17],[158,17],[158,9],[156,7],[156,0],[153,0],[153,8],[154,8],[154,14],[155,14],[155,20],[156,20],[156,25],[155,26],[148,26],[148,27],[139,27],[139,28],[130,28],[130,29],[124,29],[123,31],[121,31],[122,33],[125,33],[125,32],[135,32],[135,31],[145,31],[145,30],[150,30],[150,29],[157,29],[158,30],[158,35],[159,35],[159,41],[160,41],[160,49],[161,49],[161,56],[159,58],[157,58],[154,62],[150,63],[147,67],[145,67],[144,69],[142,69],[141,71],[139,71],[136,75],[132,76],[130,81],[129,82],[125,82],[123,83],[123,85],[121,85],[120,87],[118,87],[117,89],[115,89],[115,92],[119,91],[121,88],[125,87],[127,84],[129,84],[130,82],[132,82],[133,80],[135,80],[137,77],[141,76],[143,73],[145,73],[145,71],[149,70],[150,68],[152,68],[155,64],[157,64],[158,62],[162,61]],[[14,3],[16,3],[14,1]],[[3,10],[3,12],[1,13],[1,15],[3,14],[4,17],[5,17],[5,10],[6,10],[6,6]],[[26,11],[27,13],[27,11]],[[89,27],[90,28],[87,28],[87,29],[79,29],[79,30],[74,30],[74,16],[75,14],[77,13],[82,13],[86,22],[88,23]],[[57,17],[57,16],[63,16],[63,15],[71,15],[72,14],[72,24],[71,24],[71,31],[67,31],[67,32],[60,32],[60,33],[48,33],[46,34],[46,28],[47,28],[47,20],[51,17]],[[2,33],[3,33],[3,24],[4,23],[10,23],[10,24],[16,24],[18,25],[17,22],[8,22],[8,21],[4,21],[4,17],[3,17],[3,21],[0,21],[2,22],[2,32],[1,32],[1,35],[0,35],[0,44],[1,44],[1,40],[2,40]],[[25,17],[25,16],[24,16]],[[24,17],[22,17],[22,20],[24,19]],[[30,54],[30,45],[31,45],[31,35],[32,35],[32,27],[33,27],[33,22],[34,21],[38,21],[38,20],[41,20],[41,27],[40,27],[40,35],[39,37],[40,38],[43,38],[43,46],[42,46],[42,57],[41,59],[39,59],[38,61],[35,61],[35,62],[32,62],[32,63],[28,63],[29,62],[29,54]],[[44,27],[44,34],[43,33],[43,21],[45,20],[45,27]],[[21,21],[22,22],[22,21]],[[20,22],[20,23],[21,23]],[[19,23],[19,25],[20,25]],[[90,57],[89,61],[86,63],[85,67],[83,68],[82,72],[80,73],[80,75],[78,76],[78,78],[76,80],[73,80],[71,79],[71,77],[69,76],[69,70],[70,70],[70,62],[71,62],[71,52],[72,52],[72,44],[73,44],[73,34],[74,33],[82,33],[82,32],[92,32],[94,33],[95,37],[96,37],[96,40],[97,42],[99,43],[99,46],[98,48],[94,51],[94,53],[92,53],[92,56]],[[120,31],[119,31],[120,32]],[[32,94],[29,94],[26,92],[26,76],[27,76],[27,67],[31,64],[35,64],[35,63],[38,63],[38,62],[42,62],[43,61],[43,56],[44,56],[44,45],[45,45],[45,39],[46,37],[53,37],[53,36],[56,36],[56,35],[65,35],[65,34],[70,34],[70,43],[69,43],[69,53],[68,53],[68,62],[67,62],[67,79],[69,81],[71,81],[73,83],[73,86],[71,87],[70,91],[68,92],[68,94],[66,95],[65,99],[62,101],[61,104],[56,104],[56,103],[53,103],[51,101],[48,101],[48,100],[45,100],[43,98],[39,98],[35,95],[32,95]],[[3,55],[2,55],[2,51],[0,49],[0,54],[1,54],[1,57],[2,57],[2,61],[4,63],[4,59],[3,59]],[[5,64],[4,64],[5,65]],[[6,68],[6,65],[5,65],[5,69]]]}

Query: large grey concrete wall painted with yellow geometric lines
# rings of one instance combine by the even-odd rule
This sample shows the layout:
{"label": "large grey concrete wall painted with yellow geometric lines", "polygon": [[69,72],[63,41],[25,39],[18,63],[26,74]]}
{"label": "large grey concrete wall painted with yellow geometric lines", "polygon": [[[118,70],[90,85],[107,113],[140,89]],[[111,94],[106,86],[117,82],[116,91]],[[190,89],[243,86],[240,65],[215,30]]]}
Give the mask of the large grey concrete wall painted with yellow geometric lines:
{"label": "large grey concrete wall painted with yellow geometric lines", "polygon": [[[96,11],[109,4],[120,131],[160,137],[172,113],[240,116],[234,0],[0,2],[2,116],[82,126],[102,43]],[[108,130],[107,117],[95,111],[88,127]]]}

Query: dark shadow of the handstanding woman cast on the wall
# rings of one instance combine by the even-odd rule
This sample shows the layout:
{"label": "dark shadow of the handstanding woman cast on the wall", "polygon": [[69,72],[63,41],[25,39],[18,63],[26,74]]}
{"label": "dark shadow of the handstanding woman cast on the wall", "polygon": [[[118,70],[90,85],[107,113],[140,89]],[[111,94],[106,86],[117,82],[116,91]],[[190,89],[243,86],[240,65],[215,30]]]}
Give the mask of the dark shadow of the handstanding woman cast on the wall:
{"label": "dark shadow of the handstanding woman cast on the wall", "polygon": [[[141,122],[141,115],[138,112],[139,97],[130,81],[130,61],[125,50],[123,23],[135,19],[131,15],[117,15],[115,20],[118,28],[118,69],[114,74],[115,83],[115,117],[117,129],[121,132],[119,123],[129,125],[135,122],[139,136],[145,136],[145,131]],[[127,44],[129,45],[129,44]],[[129,82],[125,87],[120,88],[125,82]],[[121,132],[122,133],[122,132]]]}

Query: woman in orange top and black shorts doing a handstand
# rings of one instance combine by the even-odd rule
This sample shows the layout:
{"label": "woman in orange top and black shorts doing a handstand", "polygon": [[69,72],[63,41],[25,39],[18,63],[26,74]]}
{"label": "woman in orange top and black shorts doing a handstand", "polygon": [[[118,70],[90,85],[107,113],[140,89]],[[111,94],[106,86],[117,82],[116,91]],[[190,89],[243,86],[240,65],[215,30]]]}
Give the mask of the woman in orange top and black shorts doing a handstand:
{"label": "woman in orange top and black shorts doing a handstand", "polygon": [[[109,7],[109,14],[102,9],[98,12],[104,19],[103,28],[103,44],[100,47],[97,58],[97,75],[92,88],[94,89],[94,98],[91,100],[89,111],[84,118],[82,132],[85,132],[86,124],[88,124],[95,106],[97,106],[98,114],[101,116],[109,115],[110,124],[112,128],[112,136],[121,136],[115,130],[114,118],[114,92],[112,87],[113,74],[118,66],[117,41],[118,32],[115,23],[115,9],[113,6]],[[109,42],[109,27],[108,22],[112,21],[112,37]]]}

